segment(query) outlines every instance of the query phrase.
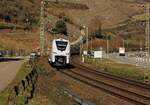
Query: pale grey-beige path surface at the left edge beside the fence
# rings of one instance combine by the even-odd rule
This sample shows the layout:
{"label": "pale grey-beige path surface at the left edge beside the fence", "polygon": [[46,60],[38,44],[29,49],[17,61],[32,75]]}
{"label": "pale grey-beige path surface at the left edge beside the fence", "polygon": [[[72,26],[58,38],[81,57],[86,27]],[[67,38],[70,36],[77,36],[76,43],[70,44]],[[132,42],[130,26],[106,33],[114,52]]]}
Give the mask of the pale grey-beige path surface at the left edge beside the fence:
{"label": "pale grey-beige path surface at the left edge beside the fence", "polygon": [[0,62],[0,92],[15,78],[25,60]]}

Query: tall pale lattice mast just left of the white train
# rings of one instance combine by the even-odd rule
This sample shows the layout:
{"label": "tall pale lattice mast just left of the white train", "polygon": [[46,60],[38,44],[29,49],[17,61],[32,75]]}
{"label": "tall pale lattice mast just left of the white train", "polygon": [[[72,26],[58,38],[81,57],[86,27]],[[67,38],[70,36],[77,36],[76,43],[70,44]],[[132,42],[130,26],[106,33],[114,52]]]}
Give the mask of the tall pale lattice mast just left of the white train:
{"label": "tall pale lattice mast just left of the white train", "polygon": [[44,1],[41,1],[41,15],[40,15],[40,50],[41,55],[45,53],[45,33],[44,33]]}

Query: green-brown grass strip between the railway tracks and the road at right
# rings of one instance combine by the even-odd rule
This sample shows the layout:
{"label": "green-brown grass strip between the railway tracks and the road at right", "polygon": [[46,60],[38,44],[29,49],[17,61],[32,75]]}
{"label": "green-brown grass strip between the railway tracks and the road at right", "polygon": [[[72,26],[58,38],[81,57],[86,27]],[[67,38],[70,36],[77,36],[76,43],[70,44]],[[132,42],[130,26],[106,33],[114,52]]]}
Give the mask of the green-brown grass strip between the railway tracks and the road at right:
{"label": "green-brown grass strip between the railway tracks and the road at right", "polygon": [[[93,60],[86,58],[86,63],[95,65],[98,69],[104,72],[112,73],[114,75],[122,76],[125,78],[134,79],[140,82],[144,82],[144,76],[148,76],[147,82],[150,83],[150,68],[144,69],[129,64],[116,63],[108,59]],[[146,73],[146,74],[145,74]]]}

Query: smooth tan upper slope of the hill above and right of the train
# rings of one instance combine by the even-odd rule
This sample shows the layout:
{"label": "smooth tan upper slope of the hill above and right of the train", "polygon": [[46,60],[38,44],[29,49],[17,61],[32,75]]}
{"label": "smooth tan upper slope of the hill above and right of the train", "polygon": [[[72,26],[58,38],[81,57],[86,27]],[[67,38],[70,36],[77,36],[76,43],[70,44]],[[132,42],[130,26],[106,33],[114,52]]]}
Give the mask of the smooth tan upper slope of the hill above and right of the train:
{"label": "smooth tan upper slope of the hill above and right of the train", "polygon": [[[88,25],[90,20],[99,16],[103,23],[103,28],[112,27],[120,22],[128,20],[132,15],[141,13],[143,11],[143,5],[136,2],[124,2],[123,0],[64,0],[67,2],[75,2],[86,4],[89,10],[62,10],[53,9],[56,12],[65,11],[73,21],[80,25]],[[130,11],[130,12],[129,12]]]}

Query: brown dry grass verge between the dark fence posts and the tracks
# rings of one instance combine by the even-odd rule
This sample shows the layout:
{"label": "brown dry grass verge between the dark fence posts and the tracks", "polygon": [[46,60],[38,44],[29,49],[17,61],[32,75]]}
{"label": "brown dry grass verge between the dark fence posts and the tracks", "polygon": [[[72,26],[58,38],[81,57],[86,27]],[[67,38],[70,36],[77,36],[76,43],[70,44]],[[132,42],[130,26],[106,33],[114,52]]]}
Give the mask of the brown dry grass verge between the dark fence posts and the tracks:
{"label": "brown dry grass verge between the dark fence posts and the tracks", "polygon": [[64,83],[57,81],[47,57],[40,58],[37,65],[39,70],[34,98],[29,105],[76,105],[75,102],[63,93]]}

